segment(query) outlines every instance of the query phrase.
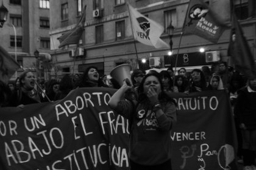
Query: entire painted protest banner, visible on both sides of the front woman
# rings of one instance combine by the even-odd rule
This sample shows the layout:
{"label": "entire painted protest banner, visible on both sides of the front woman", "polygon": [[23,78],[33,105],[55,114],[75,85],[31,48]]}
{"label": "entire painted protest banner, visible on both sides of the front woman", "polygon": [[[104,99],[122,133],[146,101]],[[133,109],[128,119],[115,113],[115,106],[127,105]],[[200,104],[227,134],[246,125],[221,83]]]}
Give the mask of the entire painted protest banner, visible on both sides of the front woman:
{"label": "entire painted protest banner, visible on both sides of the front woman", "polygon": [[[130,169],[129,122],[107,106],[115,91],[79,88],[60,101],[0,108],[0,169]],[[227,94],[170,95],[172,169],[236,169]]]}

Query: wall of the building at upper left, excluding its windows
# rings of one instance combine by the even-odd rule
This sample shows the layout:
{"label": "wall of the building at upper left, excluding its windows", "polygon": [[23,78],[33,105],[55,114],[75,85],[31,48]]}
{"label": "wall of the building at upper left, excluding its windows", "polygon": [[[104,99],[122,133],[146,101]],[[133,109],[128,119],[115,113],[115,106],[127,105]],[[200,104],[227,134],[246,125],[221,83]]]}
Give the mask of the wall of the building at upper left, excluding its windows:
{"label": "wall of the building at upper left, excluding its windows", "polygon": [[[21,5],[10,4],[9,0],[2,0],[4,6],[9,10],[9,15],[4,26],[0,29],[1,46],[15,58],[15,47],[10,47],[10,36],[15,36],[13,26],[10,25],[10,14],[21,15],[22,26],[16,26],[16,36],[23,37],[22,47],[16,48],[16,58],[23,61],[24,69],[32,69],[36,72],[34,52],[37,49],[42,57],[49,53],[50,49],[40,48],[40,37],[48,37],[50,29],[40,28],[40,16],[49,18],[49,9],[40,9],[40,1],[22,0]],[[43,54],[44,53],[44,54]],[[23,72],[18,70],[18,76]],[[15,75],[11,81],[15,80]]]}

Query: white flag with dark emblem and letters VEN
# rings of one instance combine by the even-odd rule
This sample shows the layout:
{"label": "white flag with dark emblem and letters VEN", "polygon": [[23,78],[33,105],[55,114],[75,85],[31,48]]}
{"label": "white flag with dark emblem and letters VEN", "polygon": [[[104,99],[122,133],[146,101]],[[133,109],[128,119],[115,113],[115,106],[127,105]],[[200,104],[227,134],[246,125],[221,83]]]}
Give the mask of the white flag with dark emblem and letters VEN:
{"label": "white flag with dark emblem and letters VEN", "polygon": [[169,48],[168,44],[160,39],[160,35],[162,35],[164,30],[162,25],[141,15],[129,4],[128,9],[134,39],[148,46],[154,46],[157,49],[161,47]]}

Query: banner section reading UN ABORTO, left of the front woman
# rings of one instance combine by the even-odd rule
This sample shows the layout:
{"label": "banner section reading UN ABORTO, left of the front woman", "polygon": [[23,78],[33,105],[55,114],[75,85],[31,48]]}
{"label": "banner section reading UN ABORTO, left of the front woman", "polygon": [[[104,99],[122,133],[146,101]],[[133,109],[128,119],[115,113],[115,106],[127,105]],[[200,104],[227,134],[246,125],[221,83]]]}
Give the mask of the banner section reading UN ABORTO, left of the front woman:
{"label": "banner section reading UN ABORTO, left of the front woman", "polygon": [[0,169],[129,169],[128,121],[109,88],[73,90],[52,103],[0,110]]}

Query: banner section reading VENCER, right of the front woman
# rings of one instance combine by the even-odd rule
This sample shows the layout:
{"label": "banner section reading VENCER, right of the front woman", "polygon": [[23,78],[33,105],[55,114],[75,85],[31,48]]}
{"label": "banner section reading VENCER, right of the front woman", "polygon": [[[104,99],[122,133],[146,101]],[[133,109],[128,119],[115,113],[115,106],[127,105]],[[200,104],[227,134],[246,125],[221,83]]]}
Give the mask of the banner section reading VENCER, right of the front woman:
{"label": "banner section reading VENCER, right of the front woman", "polygon": [[171,96],[178,109],[171,133],[173,169],[237,169],[235,125],[226,92]]}

